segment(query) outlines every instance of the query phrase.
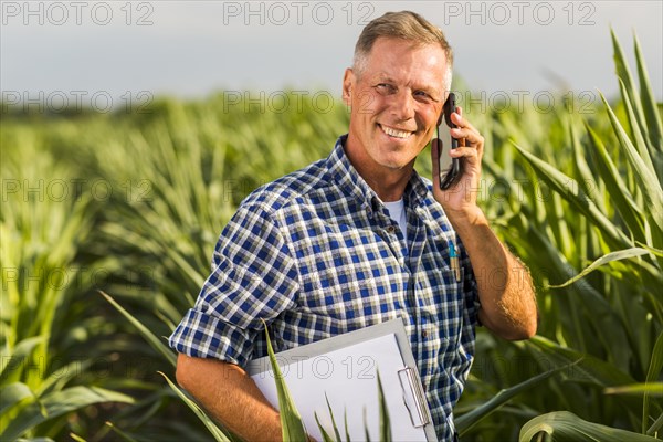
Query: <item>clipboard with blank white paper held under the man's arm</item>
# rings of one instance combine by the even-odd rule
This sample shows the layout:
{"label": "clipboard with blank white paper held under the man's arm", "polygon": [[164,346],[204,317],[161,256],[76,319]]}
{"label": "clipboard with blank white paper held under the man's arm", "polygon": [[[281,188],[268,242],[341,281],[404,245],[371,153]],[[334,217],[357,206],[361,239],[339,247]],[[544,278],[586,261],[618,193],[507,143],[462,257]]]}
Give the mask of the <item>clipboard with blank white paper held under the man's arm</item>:
{"label": "clipboard with blank white paper held under the man's arm", "polygon": [[[428,401],[402,319],[392,319],[276,354],[285,382],[306,431],[323,436],[316,423],[334,434],[329,407],[340,434],[352,441],[379,439],[378,378],[392,439],[436,441]],[[278,409],[270,358],[254,359],[246,372]],[[345,425],[347,419],[347,429]]]}

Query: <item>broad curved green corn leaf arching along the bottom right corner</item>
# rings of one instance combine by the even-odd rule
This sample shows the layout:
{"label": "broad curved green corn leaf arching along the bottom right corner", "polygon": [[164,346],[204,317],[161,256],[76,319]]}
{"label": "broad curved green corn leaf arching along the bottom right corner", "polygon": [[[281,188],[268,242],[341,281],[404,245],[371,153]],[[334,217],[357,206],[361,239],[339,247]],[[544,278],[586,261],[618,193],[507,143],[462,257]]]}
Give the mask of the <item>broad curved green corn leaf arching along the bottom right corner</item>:
{"label": "broad curved green corn leaf arching along the bottom right corner", "polygon": [[[555,411],[534,418],[520,429],[518,442],[532,442],[539,433],[555,441],[655,442],[657,439],[585,421],[568,411]],[[538,439],[537,439],[538,440]]]}

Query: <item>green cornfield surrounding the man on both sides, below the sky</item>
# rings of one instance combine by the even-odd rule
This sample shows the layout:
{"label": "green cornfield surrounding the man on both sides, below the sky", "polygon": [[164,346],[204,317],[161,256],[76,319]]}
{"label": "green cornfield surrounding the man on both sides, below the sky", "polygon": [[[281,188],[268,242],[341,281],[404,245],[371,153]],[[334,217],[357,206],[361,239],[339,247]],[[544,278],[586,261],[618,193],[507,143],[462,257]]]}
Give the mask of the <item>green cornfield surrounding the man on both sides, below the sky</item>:
{"label": "green cornfield surrounding the man on both sides, below the sky", "polygon": [[[661,104],[638,41],[632,72],[612,39],[612,104],[464,109],[486,138],[481,204],[532,271],[540,326],[519,343],[478,330],[462,440],[661,439]],[[283,96],[301,106],[259,112],[220,93],[3,113],[0,440],[233,440],[172,383],[164,337],[239,202],[347,128],[340,103]],[[430,159],[417,168],[430,176]],[[296,415],[283,419],[299,440]]]}

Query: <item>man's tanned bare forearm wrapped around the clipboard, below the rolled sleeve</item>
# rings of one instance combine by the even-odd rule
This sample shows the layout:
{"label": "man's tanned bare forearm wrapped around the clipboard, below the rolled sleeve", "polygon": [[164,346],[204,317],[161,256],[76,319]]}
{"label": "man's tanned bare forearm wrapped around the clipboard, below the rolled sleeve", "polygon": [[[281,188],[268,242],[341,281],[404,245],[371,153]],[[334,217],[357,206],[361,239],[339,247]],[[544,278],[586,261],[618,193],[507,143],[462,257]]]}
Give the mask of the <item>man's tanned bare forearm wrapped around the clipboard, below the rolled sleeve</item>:
{"label": "man's tanned bare forearm wrapped around the clipboard, below the rolled sleeve", "polygon": [[206,411],[248,441],[281,441],[281,419],[244,370],[179,355],[177,381]]}

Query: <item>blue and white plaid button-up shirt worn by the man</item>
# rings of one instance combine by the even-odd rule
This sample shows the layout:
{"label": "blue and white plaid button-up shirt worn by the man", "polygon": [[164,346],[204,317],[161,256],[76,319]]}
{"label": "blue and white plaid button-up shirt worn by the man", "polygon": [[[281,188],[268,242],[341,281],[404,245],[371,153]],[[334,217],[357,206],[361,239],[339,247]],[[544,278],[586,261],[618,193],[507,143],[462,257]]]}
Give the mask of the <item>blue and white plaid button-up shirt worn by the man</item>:
{"label": "blue and white plaid button-up shirt worn by the man", "polygon": [[[403,318],[438,436],[474,354],[478,297],[470,261],[430,181],[412,173],[408,241],[358,175],[339,138],[327,159],[250,194],[223,230],[212,273],[170,337],[193,357],[244,366],[267,354]],[[463,277],[450,267],[457,244]]]}

